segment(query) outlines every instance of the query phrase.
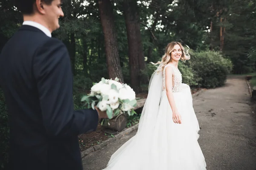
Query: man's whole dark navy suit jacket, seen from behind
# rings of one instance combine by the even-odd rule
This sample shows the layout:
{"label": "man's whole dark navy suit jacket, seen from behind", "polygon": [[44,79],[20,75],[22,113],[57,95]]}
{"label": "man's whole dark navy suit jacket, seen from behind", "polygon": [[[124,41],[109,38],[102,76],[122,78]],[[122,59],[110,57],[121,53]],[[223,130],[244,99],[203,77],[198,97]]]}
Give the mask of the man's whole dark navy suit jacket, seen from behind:
{"label": "man's whole dark navy suit jacket, seen from behind", "polygon": [[96,130],[98,113],[73,111],[65,45],[21,26],[0,54],[0,85],[9,111],[11,170],[82,170],[78,135]]}

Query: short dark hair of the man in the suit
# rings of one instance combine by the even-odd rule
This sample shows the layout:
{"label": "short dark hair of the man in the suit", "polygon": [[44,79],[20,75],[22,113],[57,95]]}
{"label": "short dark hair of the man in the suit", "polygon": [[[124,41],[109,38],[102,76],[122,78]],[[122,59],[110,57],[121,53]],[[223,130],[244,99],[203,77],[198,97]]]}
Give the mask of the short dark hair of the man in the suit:
{"label": "short dark hair of the man in the suit", "polygon": [[[42,0],[47,5],[51,5],[53,0]],[[22,14],[33,14],[35,0],[15,0],[15,6]]]}

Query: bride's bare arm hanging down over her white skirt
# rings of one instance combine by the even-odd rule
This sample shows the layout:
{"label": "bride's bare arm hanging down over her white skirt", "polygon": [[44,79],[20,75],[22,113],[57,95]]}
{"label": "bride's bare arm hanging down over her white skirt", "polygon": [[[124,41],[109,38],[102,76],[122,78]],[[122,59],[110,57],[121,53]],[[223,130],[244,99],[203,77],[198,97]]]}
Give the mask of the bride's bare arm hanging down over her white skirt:
{"label": "bride's bare arm hanging down over her white skirt", "polygon": [[167,95],[169,104],[171,105],[171,108],[172,108],[172,120],[175,123],[181,124],[181,116],[180,116],[180,113],[177,111],[175,100],[173,97],[173,92],[172,92],[173,68],[166,67],[165,72],[166,72],[166,95]]}

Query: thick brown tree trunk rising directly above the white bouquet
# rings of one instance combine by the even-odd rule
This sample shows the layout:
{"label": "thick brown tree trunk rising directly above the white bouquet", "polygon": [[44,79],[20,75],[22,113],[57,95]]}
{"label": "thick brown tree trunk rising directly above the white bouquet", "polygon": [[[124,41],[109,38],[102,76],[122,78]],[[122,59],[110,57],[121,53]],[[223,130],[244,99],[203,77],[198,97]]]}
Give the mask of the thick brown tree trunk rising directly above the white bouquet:
{"label": "thick brown tree trunk rising directly above the white bouquet", "polygon": [[120,66],[116,31],[114,27],[113,8],[110,0],[99,0],[100,20],[105,39],[105,51],[108,65],[109,78],[119,78],[124,82]]}

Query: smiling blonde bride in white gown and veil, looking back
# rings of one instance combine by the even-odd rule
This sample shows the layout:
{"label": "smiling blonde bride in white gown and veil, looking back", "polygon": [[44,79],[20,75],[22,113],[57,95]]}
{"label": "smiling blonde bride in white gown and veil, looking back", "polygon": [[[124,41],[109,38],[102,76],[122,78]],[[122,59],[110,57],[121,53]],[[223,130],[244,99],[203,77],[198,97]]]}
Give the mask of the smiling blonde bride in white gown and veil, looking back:
{"label": "smiling blonde bride in white gown and veil, looking back", "polygon": [[[179,60],[190,59],[179,42],[167,45],[149,82],[138,131],[112,156],[105,170],[206,170],[199,125]],[[154,63],[153,63],[154,64]]]}

